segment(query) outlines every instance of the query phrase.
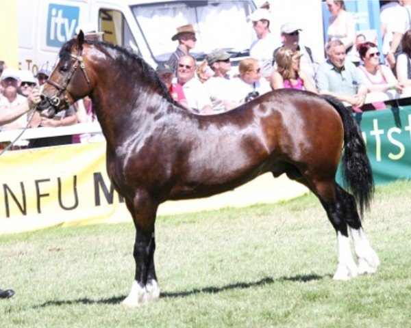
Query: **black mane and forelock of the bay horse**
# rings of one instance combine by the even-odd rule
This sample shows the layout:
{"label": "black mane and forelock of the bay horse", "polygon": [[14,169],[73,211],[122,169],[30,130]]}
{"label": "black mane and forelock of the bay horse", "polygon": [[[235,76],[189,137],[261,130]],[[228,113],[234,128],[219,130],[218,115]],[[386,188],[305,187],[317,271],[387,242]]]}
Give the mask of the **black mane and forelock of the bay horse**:
{"label": "black mane and forelock of the bay horse", "polygon": [[[63,44],[62,49],[60,49],[59,53],[60,60],[69,61],[71,59],[71,49],[75,42],[77,42],[77,39],[73,38],[65,44]],[[123,57],[127,59],[132,66],[140,68],[140,70],[142,71],[141,75],[146,83],[151,85],[154,89],[159,90],[160,95],[166,98],[166,100],[168,100],[169,102],[173,103],[178,107],[182,107],[181,105],[179,105],[179,103],[175,102],[175,100],[170,95],[169,89],[166,87],[162,79],[160,79],[157,72],[155,72],[155,70],[149,64],[147,64],[147,62],[144,59],[142,59],[142,57],[136,55],[135,53],[130,53],[129,51],[127,51],[127,49],[121,46],[116,46],[114,44],[105,43],[99,40],[90,40],[85,38],[84,42],[96,46],[100,51],[104,51],[105,49],[111,49],[116,54],[117,58]],[[129,70],[127,70],[127,72],[125,73],[129,74]]]}

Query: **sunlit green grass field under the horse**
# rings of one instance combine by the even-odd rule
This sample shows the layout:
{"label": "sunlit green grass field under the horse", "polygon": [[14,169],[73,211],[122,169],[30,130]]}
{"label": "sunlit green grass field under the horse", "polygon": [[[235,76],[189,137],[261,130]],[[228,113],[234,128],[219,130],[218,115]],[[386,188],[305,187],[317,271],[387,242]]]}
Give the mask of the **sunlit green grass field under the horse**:
{"label": "sunlit green grass field under the horse", "polygon": [[134,226],[0,236],[0,327],[411,327],[411,182],[377,187],[363,221],[376,275],[334,282],[336,236],[313,195],[159,217],[162,295],[124,309]]}

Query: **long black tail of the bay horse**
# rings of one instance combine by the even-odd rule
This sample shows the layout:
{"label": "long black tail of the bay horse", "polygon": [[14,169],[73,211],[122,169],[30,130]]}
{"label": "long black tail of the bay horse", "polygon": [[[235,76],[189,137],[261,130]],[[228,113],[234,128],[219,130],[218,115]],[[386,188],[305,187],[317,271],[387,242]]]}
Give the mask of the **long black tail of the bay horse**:
{"label": "long black tail of the bay horse", "polygon": [[343,103],[329,95],[323,95],[323,98],[338,111],[343,120],[344,148],[341,165],[343,182],[344,187],[351,190],[360,205],[360,215],[362,216],[364,208],[369,208],[374,195],[373,171],[366,154],[364,139],[362,139],[360,127],[356,120]]}

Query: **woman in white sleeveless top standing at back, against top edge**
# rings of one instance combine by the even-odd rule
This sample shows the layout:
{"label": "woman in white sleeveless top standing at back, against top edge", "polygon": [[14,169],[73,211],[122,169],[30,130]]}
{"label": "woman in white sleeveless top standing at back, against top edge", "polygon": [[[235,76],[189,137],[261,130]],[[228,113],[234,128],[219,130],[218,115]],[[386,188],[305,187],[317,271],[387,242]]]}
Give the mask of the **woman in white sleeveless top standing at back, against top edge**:
{"label": "woman in white sleeveless top standing at back, against top edge", "polygon": [[345,9],[344,1],[327,0],[327,8],[331,16],[328,20],[327,42],[340,39],[347,54],[356,52],[356,23],[351,12]]}

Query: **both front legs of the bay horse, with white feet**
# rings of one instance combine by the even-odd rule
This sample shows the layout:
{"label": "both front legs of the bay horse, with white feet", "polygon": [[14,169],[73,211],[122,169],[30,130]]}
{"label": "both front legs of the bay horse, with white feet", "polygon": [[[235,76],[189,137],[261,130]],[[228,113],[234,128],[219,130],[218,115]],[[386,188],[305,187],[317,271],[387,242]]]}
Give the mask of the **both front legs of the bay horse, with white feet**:
{"label": "both front legs of the bay horse, with white feet", "polygon": [[129,308],[138,307],[160,297],[160,287],[154,267],[154,221],[157,204],[154,204],[149,197],[138,196],[136,200],[144,200],[144,202],[135,201],[136,210],[130,211],[132,214],[135,213],[136,241],[133,256],[136,262],[136,274],[130,293],[122,303],[123,306]]}

